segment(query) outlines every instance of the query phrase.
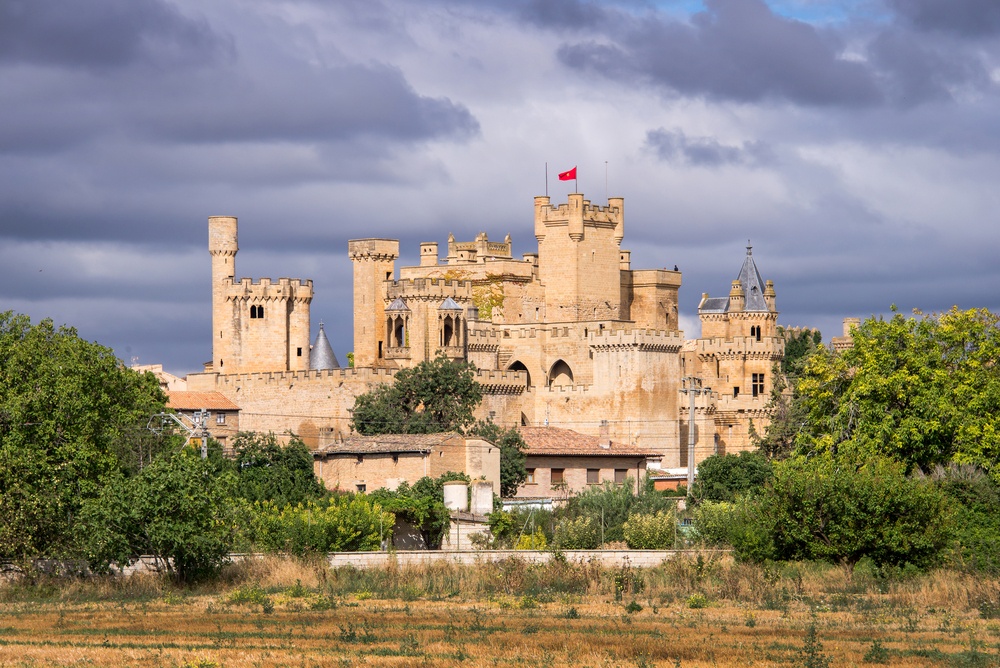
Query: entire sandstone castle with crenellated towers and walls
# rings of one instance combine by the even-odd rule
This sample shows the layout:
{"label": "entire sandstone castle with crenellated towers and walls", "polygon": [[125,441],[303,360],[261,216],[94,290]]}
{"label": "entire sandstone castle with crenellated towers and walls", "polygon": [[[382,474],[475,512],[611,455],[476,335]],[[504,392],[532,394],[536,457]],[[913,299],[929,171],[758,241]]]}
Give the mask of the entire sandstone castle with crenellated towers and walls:
{"label": "entire sandstone castle with crenellated towers and walls", "polygon": [[[357,395],[443,354],[476,365],[479,417],[501,425],[600,432],[662,453],[665,467],[687,465],[692,423],[695,461],[746,449],[751,421],[767,424],[784,352],[773,284],[748,247],[729,296],[705,294],[701,336],[685,340],[680,272],[633,269],[624,232],[622,198],[598,206],[575,193],[558,205],[535,198],[538,250],[521,258],[509,236],[449,236],[443,258],[422,243],[420,264],[397,272],[397,240],[351,240],[354,365],[340,368],[322,328],[310,351],[312,282],[238,280],[237,221],[211,217],[212,362],[188,387],[229,397],[243,429],[322,447],[350,434]],[[687,377],[711,388],[694,416]]]}

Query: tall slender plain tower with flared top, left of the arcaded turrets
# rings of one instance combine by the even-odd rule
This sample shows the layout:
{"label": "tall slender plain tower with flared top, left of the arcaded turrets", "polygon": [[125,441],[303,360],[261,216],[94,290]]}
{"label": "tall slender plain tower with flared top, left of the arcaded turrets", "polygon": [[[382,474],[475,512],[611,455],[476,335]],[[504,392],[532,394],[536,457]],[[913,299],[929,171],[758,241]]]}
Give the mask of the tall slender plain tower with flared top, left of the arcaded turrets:
{"label": "tall slender plain tower with flared top, left of the arcaded turrets", "polygon": [[384,366],[385,307],[399,241],[352,239],[347,242],[347,254],[354,264],[354,366]]}

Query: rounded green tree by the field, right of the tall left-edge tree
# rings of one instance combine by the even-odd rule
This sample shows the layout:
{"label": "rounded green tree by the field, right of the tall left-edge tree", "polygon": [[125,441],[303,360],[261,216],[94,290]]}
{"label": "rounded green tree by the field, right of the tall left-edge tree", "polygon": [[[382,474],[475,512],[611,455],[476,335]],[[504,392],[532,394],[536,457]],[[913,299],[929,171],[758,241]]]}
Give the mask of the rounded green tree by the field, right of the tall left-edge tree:
{"label": "rounded green tree by the field, right of the tall left-edge tree", "polygon": [[114,473],[87,499],[77,525],[81,551],[97,570],[150,554],[178,580],[214,573],[233,541],[233,476],[182,448],[138,475]]}

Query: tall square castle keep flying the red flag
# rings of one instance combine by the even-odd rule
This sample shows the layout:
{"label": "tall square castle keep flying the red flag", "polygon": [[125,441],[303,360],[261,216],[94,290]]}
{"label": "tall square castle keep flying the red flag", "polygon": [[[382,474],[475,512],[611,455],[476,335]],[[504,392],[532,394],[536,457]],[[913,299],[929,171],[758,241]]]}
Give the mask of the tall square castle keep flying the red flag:
{"label": "tall square castle keep flying the red flag", "polygon": [[538,272],[545,287],[550,322],[621,318],[620,246],[625,233],[625,201],[592,206],[581,193],[552,206],[535,198]]}

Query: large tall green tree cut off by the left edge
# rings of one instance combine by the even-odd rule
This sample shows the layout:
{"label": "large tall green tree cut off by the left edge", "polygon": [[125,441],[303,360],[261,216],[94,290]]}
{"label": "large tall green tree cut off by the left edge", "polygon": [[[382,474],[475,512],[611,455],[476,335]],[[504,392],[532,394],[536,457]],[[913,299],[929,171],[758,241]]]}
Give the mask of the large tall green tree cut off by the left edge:
{"label": "large tall green tree cut off by the left edge", "polygon": [[81,504],[164,403],[156,378],[111,349],[0,313],[0,558],[71,552]]}

